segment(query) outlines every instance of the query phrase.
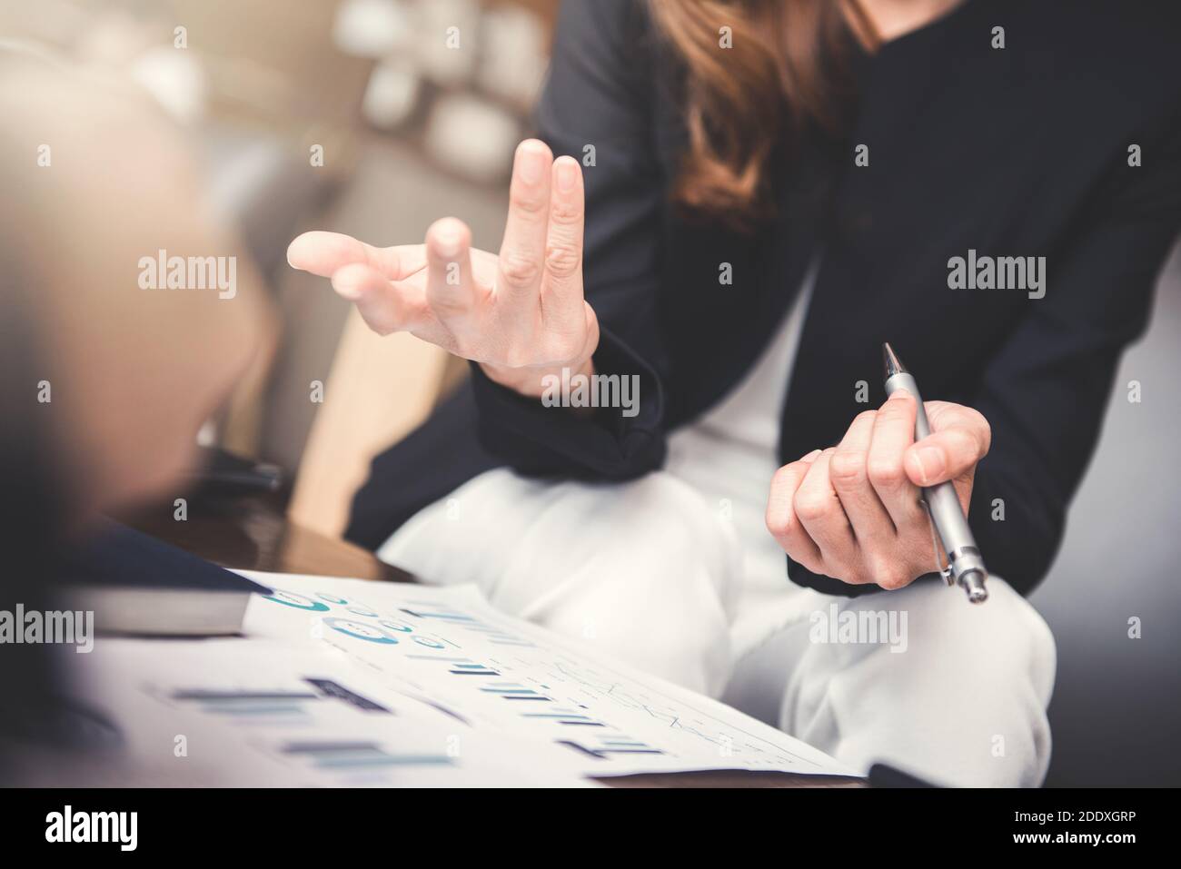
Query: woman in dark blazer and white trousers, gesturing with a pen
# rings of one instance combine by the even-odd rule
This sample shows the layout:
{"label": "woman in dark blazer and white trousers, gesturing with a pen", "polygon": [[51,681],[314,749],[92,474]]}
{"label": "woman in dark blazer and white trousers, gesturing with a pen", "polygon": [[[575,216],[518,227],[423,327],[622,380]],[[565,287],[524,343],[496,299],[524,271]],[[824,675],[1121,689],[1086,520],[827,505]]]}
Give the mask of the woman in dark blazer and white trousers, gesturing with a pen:
{"label": "woman in dark blazer and white trousers, gesturing with a pen", "polygon": [[[855,766],[1039,783],[1055,652],[1020,594],[1176,234],[1172,30],[1090,1],[567,2],[498,255],[454,218],[291,247],[378,332],[472,360],[350,536]],[[883,340],[941,399],[921,443],[913,397],[874,398]],[[639,403],[540,400],[563,372]],[[919,486],[947,479],[980,607],[931,577]],[[834,627],[876,615],[888,642]]]}

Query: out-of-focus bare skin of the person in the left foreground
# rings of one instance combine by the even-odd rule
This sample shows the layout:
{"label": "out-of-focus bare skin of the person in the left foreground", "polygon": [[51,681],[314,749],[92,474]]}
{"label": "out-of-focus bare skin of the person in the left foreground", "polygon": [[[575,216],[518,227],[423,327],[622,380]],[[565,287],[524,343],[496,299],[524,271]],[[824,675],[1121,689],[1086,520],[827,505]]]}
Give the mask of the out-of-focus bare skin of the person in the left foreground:
{"label": "out-of-focus bare skin of the person in the left foreground", "polygon": [[259,347],[257,283],[144,280],[161,250],[249,270],[145,96],[0,45],[0,118],[4,439],[44,439],[70,512],[168,494]]}

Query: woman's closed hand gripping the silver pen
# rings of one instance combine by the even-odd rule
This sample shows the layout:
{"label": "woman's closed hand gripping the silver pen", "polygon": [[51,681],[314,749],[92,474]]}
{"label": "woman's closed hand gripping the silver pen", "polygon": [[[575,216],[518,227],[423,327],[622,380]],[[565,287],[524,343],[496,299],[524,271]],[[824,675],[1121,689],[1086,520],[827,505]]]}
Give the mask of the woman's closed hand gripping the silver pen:
{"label": "woman's closed hand gripping the silver pen", "polygon": [[976,465],[992,436],[971,407],[925,407],[932,433],[918,443],[914,396],[899,390],[857,416],[837,446],[776,472],[766,528],[792,560],[816,574],[889,589],[937,569],[942,555],[919,488],[952,481],[967,515]]}

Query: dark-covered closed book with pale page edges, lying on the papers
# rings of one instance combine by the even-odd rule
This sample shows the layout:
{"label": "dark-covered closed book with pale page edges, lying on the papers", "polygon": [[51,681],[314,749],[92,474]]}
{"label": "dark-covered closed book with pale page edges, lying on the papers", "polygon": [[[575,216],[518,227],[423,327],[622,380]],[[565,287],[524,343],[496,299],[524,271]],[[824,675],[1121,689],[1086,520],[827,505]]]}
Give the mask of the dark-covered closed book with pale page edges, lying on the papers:
{"label": "dark-covered closed book with pale page edges, lying on the papers", "polygon": [[65,605],[93,610],[94,628],[116,634],[236,634],[250,594],[270,594],[257,582],[117,523],[74,547],[59,579]]}

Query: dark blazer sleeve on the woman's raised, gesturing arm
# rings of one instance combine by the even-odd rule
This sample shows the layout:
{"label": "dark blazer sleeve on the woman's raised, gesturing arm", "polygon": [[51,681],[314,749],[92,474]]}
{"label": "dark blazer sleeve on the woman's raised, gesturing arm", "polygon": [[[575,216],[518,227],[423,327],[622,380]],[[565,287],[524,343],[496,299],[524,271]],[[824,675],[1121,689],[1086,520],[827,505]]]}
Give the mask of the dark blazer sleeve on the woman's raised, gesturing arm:
{"label": "dark blazer sleeve on the woman's raised, gesturing arm", "polygon": [[539,109],[539,136],[582,164],[583,285],[599,318],[595,371],[637,375],[634,414],[544,407],[472,365],[484,447],[522,473],[629,479],[664,463],[655,298],[665,179],[653,146],[651,27],[635,0],[567,0]]}

